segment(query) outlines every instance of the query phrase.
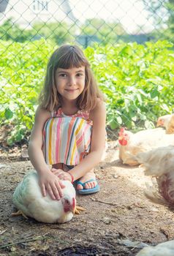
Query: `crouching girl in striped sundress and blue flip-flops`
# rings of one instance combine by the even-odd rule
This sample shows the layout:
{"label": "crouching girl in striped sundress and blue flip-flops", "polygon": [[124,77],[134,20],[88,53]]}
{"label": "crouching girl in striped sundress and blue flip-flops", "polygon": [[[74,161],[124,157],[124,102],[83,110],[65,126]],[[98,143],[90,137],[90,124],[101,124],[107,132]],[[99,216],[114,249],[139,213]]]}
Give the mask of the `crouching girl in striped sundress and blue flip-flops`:
{"label": "crouching girl in striped sundress and blue flip-flops", "polygon": [[29,141],[43,196],[48,192],[59,200],[62,179],[79,180],[80,194],[99,191],[94,167],[105,150],[105,118],[102,94],[83,51],[73,45],[55,50]]}

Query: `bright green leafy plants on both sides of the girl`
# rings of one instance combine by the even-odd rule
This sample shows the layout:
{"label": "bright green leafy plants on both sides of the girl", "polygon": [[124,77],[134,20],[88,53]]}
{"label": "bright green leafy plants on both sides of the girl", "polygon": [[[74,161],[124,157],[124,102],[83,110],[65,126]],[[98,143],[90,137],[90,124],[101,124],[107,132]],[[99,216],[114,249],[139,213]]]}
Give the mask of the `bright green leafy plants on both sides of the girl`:
{"label": "bright green leafy plants on both sides of the girl", "polygon": [[[37,96],[54,45],[0,41],[1,126],[7,143],[20,141],[34,123]],[[94,45],[85,53],[106,96],[107,125],[112,129],[154,127],[158,116],[173,112],[174,53],[169,42]]]}

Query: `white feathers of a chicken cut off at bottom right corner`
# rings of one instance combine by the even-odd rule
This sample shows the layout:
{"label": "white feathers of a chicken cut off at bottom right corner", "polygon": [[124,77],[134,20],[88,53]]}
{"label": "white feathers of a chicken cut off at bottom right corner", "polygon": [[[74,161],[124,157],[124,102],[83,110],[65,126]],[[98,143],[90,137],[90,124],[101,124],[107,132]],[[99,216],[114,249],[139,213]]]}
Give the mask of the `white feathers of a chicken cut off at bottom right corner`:
{"label": "white feathers of a chicken cut off at bottom right corner", "polygon": [[145,246],[136,256],[173,256],[174,240],[167,241],[156,246]]}

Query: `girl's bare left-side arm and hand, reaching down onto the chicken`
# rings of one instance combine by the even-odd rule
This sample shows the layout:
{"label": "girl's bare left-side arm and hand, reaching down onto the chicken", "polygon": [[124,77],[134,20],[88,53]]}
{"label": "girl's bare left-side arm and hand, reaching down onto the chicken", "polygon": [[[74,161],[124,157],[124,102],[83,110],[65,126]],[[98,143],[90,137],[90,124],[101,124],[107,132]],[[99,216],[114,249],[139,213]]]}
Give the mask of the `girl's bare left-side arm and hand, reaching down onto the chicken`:
{"label": "girl's bare left-side arm and hand, reaching down onto the chicken", "polygon": [[53,200],[59,200],[60,197],[62,197],[61,189],[64,188],[64,185],[61,184],[59,178],[50,171],[42,153],[42,132],[45,121],[47,121],[48,118],[50,118],[50,112],[38,107],[29,141],[29,157],[39,175],[39,185],[42,189],[42,195],[46,196],[47,190]]}

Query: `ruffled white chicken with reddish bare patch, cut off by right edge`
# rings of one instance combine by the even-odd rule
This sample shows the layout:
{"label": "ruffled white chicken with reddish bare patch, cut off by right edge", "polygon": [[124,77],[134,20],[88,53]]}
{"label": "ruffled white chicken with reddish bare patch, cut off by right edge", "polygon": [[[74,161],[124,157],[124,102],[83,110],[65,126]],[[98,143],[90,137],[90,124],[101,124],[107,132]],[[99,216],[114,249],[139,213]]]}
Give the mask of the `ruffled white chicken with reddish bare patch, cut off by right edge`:
{"label": "ruffled white chicken with reddish bare patch, cut off by right edge", "polygon": [[155,148],[135,157],[145,167],[145,175],[156,177],[158,193],[149,187],[145,195],[156,203],[174,206],[174,146]]}

